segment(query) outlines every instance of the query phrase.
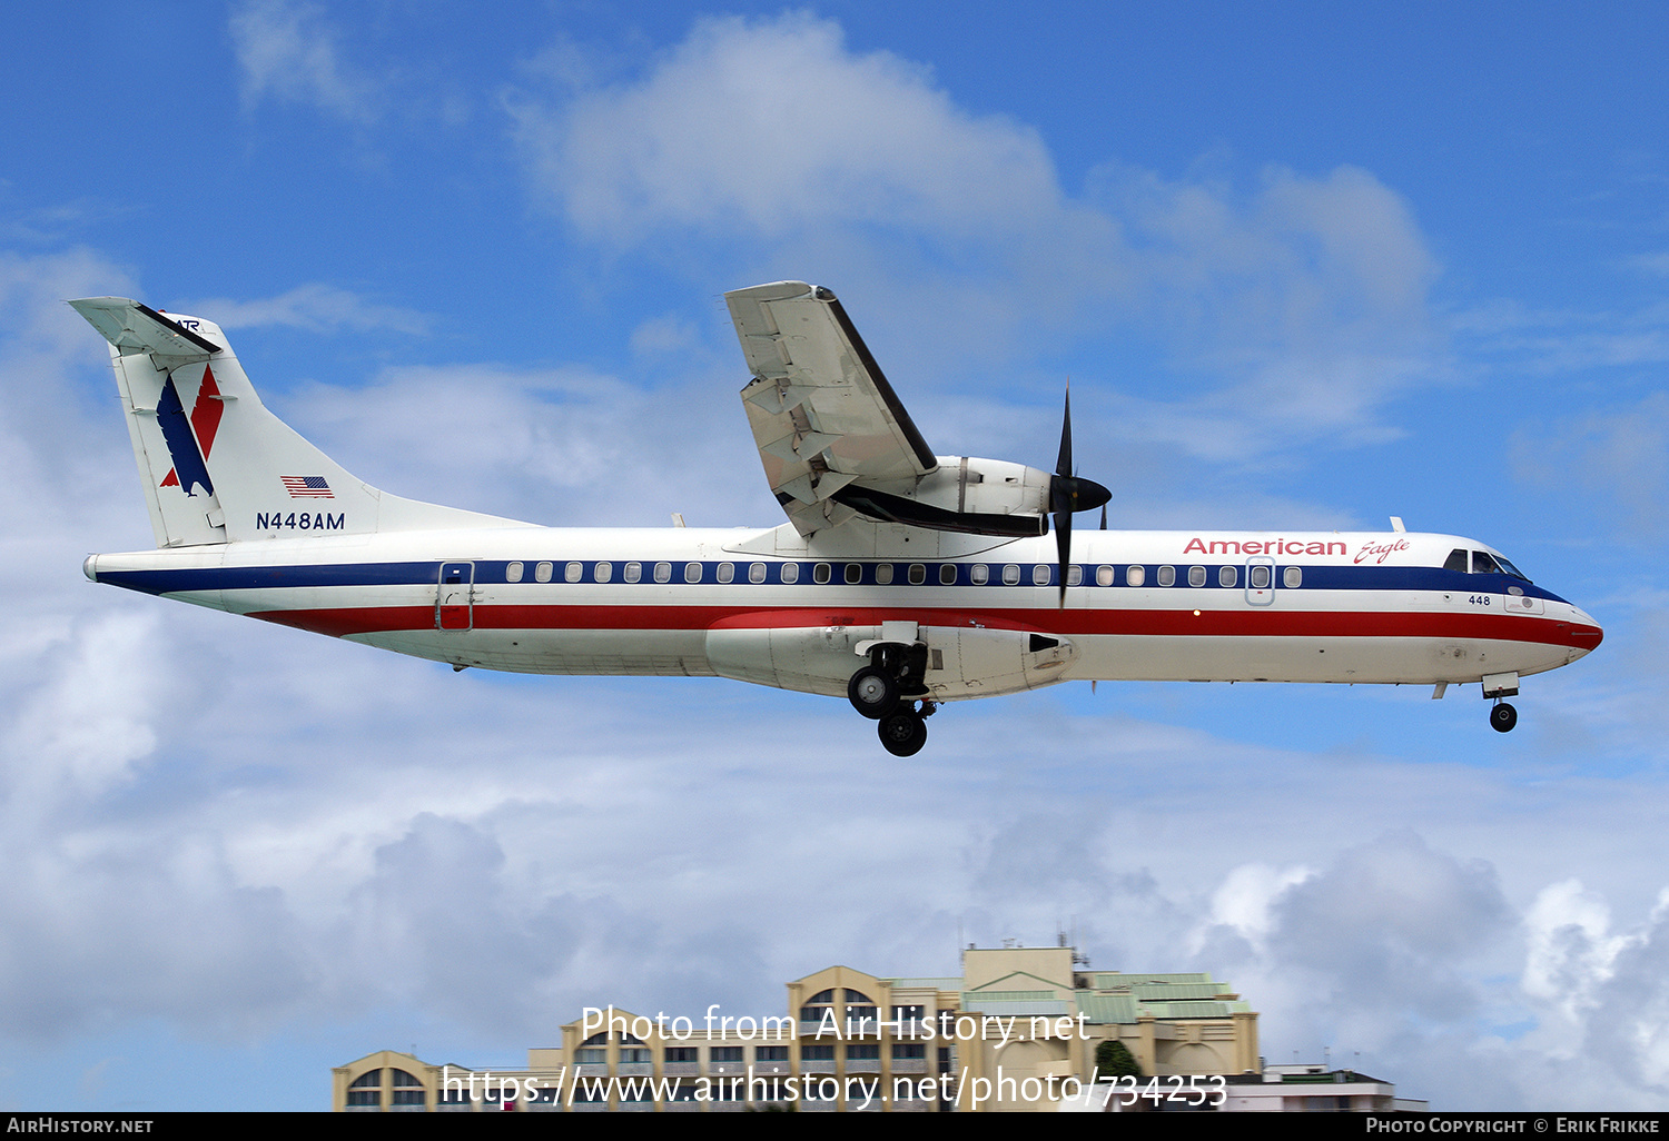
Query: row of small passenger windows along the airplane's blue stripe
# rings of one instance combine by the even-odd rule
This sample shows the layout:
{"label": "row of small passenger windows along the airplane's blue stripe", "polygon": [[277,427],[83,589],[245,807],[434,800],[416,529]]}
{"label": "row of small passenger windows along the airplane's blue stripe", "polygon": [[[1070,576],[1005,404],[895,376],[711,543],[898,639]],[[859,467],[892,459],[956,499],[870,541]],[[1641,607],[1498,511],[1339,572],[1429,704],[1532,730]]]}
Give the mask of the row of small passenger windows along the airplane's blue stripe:
{"label": "row of small passenger windows along the airplane's blue stripe", "polygon": [[[1489,557],[1489,555],[1485,555],[1485,557]],[[748,569],[746,569],[748,582],[754,582],[754,584],[764,582],[766,581],[766,574],[768,574],[768,565],[769,564],[764,564],[764,562],[751,562],[751,564],[748,564]],[[783,562],[783,564],[778,564],[778,565],[781,567],[779,576],[778,576],[778,582],[781,582],[781,584],[799,582],[799,564],[798,562]],[[870,565],[870,567],[875,569],[875,577],[870,579],[871,582],[875,582],[876,586],[891,586],[893,584],[895,576],[896,576],[896,567],[891,562],[873,562],[873,564],[846,562],[846,564],[841,564],[841,570],[840,570],[841,582],[845,582],[846,586],[863,584],[865,582],[865,567],[866,565]],[[960,570],[961,565],[963,564],[956,564],[956,562],[941,562],[941,564],[938,564],[938,581],[940,581],[940,586],[956,586],[958,581],[960,581],[960,577],[961,577],[961,570]],[[993,582],[993,567],[991,565],[988,565],[985,562],[975,562],[975,564],[966,564],[966,565],[968,565],[968,582],[971,586],[990,586]],[[1003,567],[995,569],[995,570],[996,570],[996,581],[1000,581],[1003,586],[1020,586],[1021,577],[1030,577],[1031,586],[1050,586],[1055,581],[1055,567],[1050,565],[1050,564],[1046,564],[1046,562],[1030,564],[1030,572],[1028,574],[1020,567],[1020,564],[1015,564],[1015,562],[1005,564]],[[1270,582],[1273,581],[1273,570],[1275,570],[1273,567],[1265,565],[1265,564],[1255,564],[1255,565],[1248,567],[1247,570],[1248,570],[1248,574],[1247,574],[1247,586],[1250,589],[1253,589],[1253,591],[1267,591],[1270,587]],[[527,572],[526,564],[511,562],[511,564],[507,564],[504,567],[504,581],[506,582],[521,582],[522,577],[526,576],[526,572]],[[1080,567],[1077,564],[1068,565],[1066,567],[1066,586],[1083,586],[1083,572],[1085,572],[1085,567]],[[532,579],[534,579],[534,582],[549,582],[554,577],[554,574],[556,574],[556,564],[552,564],[552,562],[537,562],[537,564],[534,564],[534,569],[532,569]],[[673,581],[673,564],[671,562],[656,562],[656,564],[651,565],[649,574],[651,574],[651,577],[653,577],[654,582],[671,582]],[[708,570],[706,570],[706,564],[703,564],[703,562],[686,562],[683,565],[683,579],[684,579],[684,582],[703,582],[704,579],[709,581],[709,582],[734,582],[736,581],[736,574],[738,574],[738,567],[736,567],[734,562],[719,562],[719,564],[716,564],[714,569],[713,569],[713,577],[711,579],[706,577]],[[644,577],[644,564],[641,564],[641,562],[626,562],[626,564],[621,565],[621,581],[623,582],[643,582],[643,577]],[[1192,586],[1192,587],[1203,587],[1207,584],[1207,579],[1208,579],[1208,570],[1205,567],[1188,567],[1187,569],[1187,582],[1188,582],[1188,586]],[[584,581],[587,581],[586,579],[586,564],[584,562],[569,562],[569,564],[566,564],[562,567],[562,582],[584,582]],[[591,564],[591,579],[589,581],[591,582],[613,582],[614,581],[614,564],[613,562],[594,562],[594,564]],[[826,586],[826,584],[833,582],[834,581],[834,564],[831,564],[831,562],[813,564],[813,567],[811,567],[811,581],[816,582],[818,586]],[[910,586],[923,586],[928,581],[928,567],[926,567],[926,564],[923,564],[923,562],[911,562],[911,564],[908,564],[908,567],[905,570],[905,581],[910,582]],[[1128,567],[1125,567],[1123,581],[1125,581],[1125,586],[1133,586],[1133,587],[1147,586],[1147,567],[1143,567],[1143,565],[1128,565]],[[1118,567],[1100,565],[1100,567],[1095,569],[1095,586],[1117,586],[1117,582],[1118,582]],[[1153,584],[1155,586],[1162,586],[1162,587],[1177,586],[1177,567],[1172,567],[1172,565],[1162,565],[1162,567],[1158,567],[1155,570],[1155,574],[1153,574]],[[1220,587],[1235,587],[1235,586],[1240,586],[1240,567],[1235,567],[1235,565],[1220,565],[1220,567],[1217,567],[1217,586],[1220,586]],[[1303,586],[1303,569],[1302,567],[1285,567],[1282,570],[1282,586],[1285,586],[1288,591],[1295,591],[1300,586]]]}

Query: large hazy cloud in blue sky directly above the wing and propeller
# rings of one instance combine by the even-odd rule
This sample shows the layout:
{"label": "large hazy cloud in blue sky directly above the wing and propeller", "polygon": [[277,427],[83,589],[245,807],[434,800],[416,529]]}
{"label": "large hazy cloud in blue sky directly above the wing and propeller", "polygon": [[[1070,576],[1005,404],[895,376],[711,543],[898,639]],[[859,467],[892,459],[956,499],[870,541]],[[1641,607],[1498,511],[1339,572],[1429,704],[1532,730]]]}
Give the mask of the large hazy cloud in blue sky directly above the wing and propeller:
{"label": "large hazy cloud in blue sky directly above the wing and propeller", "polygon": [[809,15],[703,20],[641,77],[509,108],[536,197],[586,240],[701,250],[728,285],[819,275],[900,372],[960,390],[1011,385],[993,364],[1038,339],[1158,335],[1172,372],[1120,430],[1217,460],[1385,439],[1380,405],[1444,372],[1439,267],[1360,168],[1240,188],[1108,163],[1071,194],[1035,130]]}

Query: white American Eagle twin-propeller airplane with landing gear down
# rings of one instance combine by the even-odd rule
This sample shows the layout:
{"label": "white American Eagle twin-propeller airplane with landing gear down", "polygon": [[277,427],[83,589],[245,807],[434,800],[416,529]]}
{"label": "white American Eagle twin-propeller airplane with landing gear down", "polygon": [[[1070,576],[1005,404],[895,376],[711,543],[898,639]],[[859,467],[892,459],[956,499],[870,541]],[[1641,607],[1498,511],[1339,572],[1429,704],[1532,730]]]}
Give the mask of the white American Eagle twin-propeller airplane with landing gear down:
{"label": "white American Eagle twin-propeller airplane with landing gear down", "polygon": [[[1053,472],[936,455],[828,289],[724,300],[776,527],[561,529],[401,499],[269,412],[214,322],[72,300],[110,342],[157,539],[83,570],[454,671],[845,696],[900,757],[946,702],[1066,681],[1477,684],[1507,732],[1522,677],[1602,639],[1494,547],[1397,517],[1107,530],[1070,394]],[[1075,535],[1097,507],[1102,529]]]}

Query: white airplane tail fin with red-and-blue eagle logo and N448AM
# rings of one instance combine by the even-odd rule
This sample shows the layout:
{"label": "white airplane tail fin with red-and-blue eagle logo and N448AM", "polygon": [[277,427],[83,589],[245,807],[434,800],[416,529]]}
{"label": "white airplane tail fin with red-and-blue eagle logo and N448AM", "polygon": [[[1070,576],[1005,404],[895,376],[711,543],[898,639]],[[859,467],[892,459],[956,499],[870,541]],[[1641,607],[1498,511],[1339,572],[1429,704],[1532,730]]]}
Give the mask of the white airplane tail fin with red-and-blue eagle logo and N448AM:
{"label": "white airplane tail fin with red-and-blue eagle logo and N448AM", "polygon": [[267,410],[210,320],[125,297],[70,305],[110,342],[159,547],[526,525],[354,479]]}

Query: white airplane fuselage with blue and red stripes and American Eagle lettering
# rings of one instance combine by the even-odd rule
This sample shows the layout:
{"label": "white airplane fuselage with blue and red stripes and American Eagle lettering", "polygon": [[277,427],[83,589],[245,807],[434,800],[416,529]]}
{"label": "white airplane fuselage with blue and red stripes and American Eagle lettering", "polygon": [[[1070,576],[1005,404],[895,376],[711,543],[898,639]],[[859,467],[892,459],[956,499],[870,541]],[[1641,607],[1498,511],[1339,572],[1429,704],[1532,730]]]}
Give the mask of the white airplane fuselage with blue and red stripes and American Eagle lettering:
{"label": "white airplane fuselage with blue and red stripes and American Eagle lettering", "polygon": [[[1432,534],[542,529],[319,535],[87,560],[88,577],[454,666],[724,676],[845,694],[875,641],[921,644],[933,701],[1071,679],[1475,682],[1601,641]],[[1260,570],[1262,567],[1262,570]]]}

